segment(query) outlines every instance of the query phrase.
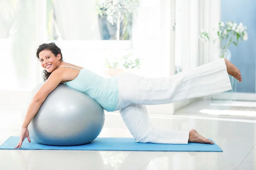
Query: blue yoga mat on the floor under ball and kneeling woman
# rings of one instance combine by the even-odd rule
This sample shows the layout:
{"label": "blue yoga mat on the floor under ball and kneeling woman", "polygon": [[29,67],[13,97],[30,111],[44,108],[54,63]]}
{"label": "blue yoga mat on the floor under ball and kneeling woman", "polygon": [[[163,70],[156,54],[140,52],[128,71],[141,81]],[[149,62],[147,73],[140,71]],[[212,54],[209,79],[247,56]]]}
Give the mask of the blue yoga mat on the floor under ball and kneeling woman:
{"label": "blue yoga mat on the floor under ball and kneeling woman", "polygon": [[[0,149],[14,149],[20,137],[11,136]],[[209,139],[212,141],[212,139]],[[213,141],[212,141],[213,142]],[[215,143],[215,142],[213,142]],[[96,138],[89,144],[79,146],[49,146],[39,144],[31,139],[24,140],[20,149],[23,150],[122,150],[122,151],[186,151],[186,152],[222,152],[217,144],[153,144],[137,143],[133,138]]]}

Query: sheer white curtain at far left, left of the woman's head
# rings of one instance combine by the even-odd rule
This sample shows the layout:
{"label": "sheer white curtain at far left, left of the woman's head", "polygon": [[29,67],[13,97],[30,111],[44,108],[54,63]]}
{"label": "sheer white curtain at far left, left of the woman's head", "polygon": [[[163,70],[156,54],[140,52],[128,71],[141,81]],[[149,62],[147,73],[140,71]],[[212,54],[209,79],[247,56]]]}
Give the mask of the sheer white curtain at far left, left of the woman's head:
{"label": "sheer white curtain at far left, left of the woman's head", "polygon": [[[33,65],[35,58],[35,1],[2,0],[0,3],[0,72],[4,73],[6,83],[1,90],[32,88]],[[39,64],[39,63],[38,63]]]}

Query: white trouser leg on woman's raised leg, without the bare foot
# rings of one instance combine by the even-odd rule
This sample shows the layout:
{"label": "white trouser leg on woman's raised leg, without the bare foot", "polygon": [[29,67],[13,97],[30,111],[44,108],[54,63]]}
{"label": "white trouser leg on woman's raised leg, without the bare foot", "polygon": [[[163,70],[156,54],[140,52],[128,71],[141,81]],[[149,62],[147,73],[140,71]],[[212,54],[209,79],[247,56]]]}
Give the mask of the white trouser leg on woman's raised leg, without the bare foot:
{"label": "white trouser leg on woman's raised leg, without the bare foot", "polygon": [[141,105],[158,105],[231,90],[224,59],[183,71],[172,77],[147,78],[135,74],[118,76],[120,100]]}

